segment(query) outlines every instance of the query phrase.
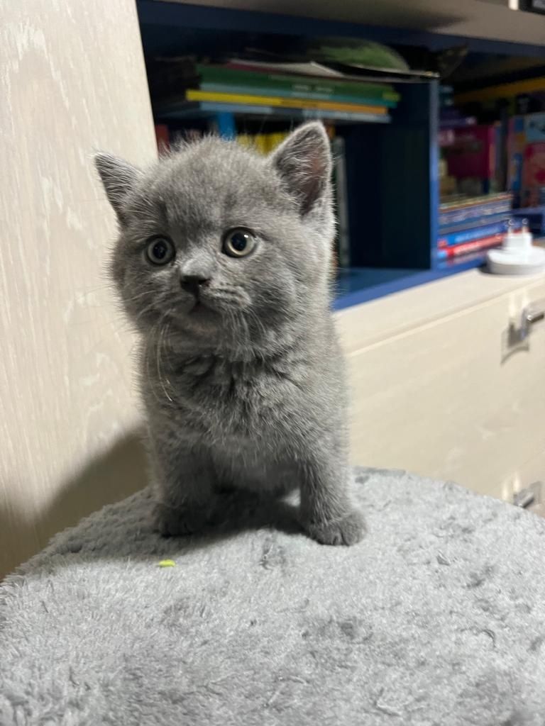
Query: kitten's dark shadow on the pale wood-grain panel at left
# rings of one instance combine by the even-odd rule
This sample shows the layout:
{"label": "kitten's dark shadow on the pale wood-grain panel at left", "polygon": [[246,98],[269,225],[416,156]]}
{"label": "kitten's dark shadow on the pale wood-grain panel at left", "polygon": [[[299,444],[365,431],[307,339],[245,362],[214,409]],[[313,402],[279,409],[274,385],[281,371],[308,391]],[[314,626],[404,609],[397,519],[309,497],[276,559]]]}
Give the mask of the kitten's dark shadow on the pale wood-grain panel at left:
{"label": "kitten's dark shadow on the pale wood-grain panel at left", "polygon": [[134,431],[89,462],[34,518],[29,519],[16,505],[0,502],[0,580],[39,552],[58,531],[147,484],[142,437]]}

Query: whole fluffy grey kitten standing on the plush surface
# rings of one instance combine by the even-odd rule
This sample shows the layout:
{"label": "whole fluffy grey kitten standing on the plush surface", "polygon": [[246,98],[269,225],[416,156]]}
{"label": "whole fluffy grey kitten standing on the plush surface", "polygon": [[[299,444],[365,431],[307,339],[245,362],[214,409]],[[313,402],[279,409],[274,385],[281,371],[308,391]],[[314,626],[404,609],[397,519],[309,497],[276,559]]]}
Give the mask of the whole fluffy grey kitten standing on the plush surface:
{"label": "whole fluffy grey kitten standing on the plush surface", "polygon": [[268,158],[209,137],[147,171],[96,165],[119,222],[113,279],[141,338],[158,529],[200,529],[225,487],[299,486],[310,537],[358,542],[323,126]]}

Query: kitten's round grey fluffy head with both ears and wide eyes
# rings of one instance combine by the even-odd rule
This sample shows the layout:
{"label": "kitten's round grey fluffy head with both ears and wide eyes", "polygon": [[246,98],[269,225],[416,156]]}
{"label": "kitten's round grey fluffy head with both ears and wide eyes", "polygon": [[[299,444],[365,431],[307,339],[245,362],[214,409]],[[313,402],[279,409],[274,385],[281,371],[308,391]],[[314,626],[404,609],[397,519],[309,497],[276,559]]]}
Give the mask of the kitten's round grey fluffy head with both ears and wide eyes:
{"label": "kitten's round grey fluffy head with both ears and wide eyes", "polygon": [[145,173],[97,166],[120,220],[113,277],[145,335],[255,349],[323,301],[333,225],[318,124],[269,159],[206,139]]}

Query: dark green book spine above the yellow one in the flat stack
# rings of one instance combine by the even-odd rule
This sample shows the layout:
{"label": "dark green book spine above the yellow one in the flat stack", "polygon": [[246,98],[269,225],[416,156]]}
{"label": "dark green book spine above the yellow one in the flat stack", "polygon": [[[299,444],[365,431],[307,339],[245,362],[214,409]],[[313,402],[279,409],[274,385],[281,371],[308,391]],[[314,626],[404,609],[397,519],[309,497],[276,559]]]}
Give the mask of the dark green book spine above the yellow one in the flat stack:
{"label": "dark green book spine above the yellow one in the flat stack", "polygon": [[358,83],[334,81],[329,78],[310,78],[309,76],[284,76],[277,73],[257,73],[251,70],[235,70],[221,66],[198,65],[197,71],[203,83],[220,83],[232,86],[252,86],[260,88],[287,89],[294,95],[321,94],[335,97],[347,95],[364,99],[397,102],[400,95],[386,83]]}

